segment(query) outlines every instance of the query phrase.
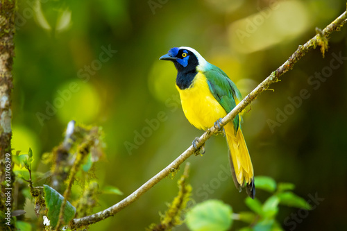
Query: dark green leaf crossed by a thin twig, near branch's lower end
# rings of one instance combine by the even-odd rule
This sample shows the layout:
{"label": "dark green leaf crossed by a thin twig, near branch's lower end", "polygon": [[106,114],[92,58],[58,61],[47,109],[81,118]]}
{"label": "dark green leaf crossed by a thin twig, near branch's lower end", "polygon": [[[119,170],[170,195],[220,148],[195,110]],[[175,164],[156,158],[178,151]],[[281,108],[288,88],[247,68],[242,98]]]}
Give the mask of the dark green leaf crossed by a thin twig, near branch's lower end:
{"label": "dark green leaf crossed by a thin twig, near branch's lower end", "polygon": [[[51,221],[51,226],[56,228],[59,219],[60,206],[62,205],[62,201],[64,197],[58,193],[58,191],[49,187],[48,185],[44,185],[44,200],[46,202],[46,208],[48,209],[47,217]],[[65,208],[63,211],[63,221],[67,224],[71,219],[74,218],[76,214],[76,208],[69,203],[66,202]]]}

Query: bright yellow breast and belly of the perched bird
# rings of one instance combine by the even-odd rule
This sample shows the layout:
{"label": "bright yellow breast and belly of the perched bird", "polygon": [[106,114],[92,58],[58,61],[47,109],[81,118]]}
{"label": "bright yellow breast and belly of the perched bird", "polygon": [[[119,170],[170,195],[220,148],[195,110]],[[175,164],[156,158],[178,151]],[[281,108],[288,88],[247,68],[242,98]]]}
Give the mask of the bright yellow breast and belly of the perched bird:
{"label": "bright yellow breast and belly of the perched bird", "polygon": [[[177,87],[177,86],[176,86]],[[198,72],[192,85],[187,89],[179,89],[183,112],[188,121],[196,128],[206,130],[219,118],[226,116],[226,110],[218,103],[210,92],[205,76]]]}

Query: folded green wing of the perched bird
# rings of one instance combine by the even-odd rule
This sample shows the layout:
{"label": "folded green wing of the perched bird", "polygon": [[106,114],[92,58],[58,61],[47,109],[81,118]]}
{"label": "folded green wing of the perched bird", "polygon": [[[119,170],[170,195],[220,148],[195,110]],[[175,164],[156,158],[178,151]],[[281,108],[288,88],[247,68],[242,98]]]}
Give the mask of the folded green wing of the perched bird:
{"label": "folded green wing of the perched bird", "polygon": [[[210,64],[211,65],[211,64]],[[211,65],[211,68],[204,71],[208,87],[214,96],[214,99],[229,113],[236,106],[236,101],[241,101],[242,96],[237,89],[235,83],[222,71],[219,67]],[[241,116],[237,115],[232,121],[234,123],[235,132],[239,129],[239,121]]]}

